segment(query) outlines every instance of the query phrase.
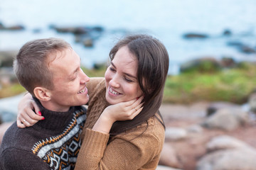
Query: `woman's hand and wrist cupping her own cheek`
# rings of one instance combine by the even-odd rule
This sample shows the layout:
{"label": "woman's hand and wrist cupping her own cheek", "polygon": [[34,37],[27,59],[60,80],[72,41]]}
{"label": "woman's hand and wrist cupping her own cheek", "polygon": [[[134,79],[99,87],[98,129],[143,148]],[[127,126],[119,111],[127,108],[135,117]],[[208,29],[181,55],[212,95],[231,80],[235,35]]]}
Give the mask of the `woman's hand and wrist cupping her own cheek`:
{"label": "woman's hand and wrist cupping her own cheek", "polygon": [[132,101],[117,103],[105,108],[100,118],[97,120],[92,130],[109,133],[113,123],[117,120],[132,120],[143,109],[143,96]]}

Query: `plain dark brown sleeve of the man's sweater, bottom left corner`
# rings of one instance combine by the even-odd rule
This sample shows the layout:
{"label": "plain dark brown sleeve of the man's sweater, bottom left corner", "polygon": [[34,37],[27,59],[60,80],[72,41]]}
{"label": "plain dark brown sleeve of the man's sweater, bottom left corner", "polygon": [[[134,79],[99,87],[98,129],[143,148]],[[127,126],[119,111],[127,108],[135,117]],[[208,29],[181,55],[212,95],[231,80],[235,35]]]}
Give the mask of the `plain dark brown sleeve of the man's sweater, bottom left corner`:
{"label": "plain dark brown sleeve of the man's sweater, bottom left corner", "polygon": [[32,152],[27,152],[20,149],[5,149],[1,153],[1,169],[4,170],[46,170],[50,169],[43,159],[40,159]]}

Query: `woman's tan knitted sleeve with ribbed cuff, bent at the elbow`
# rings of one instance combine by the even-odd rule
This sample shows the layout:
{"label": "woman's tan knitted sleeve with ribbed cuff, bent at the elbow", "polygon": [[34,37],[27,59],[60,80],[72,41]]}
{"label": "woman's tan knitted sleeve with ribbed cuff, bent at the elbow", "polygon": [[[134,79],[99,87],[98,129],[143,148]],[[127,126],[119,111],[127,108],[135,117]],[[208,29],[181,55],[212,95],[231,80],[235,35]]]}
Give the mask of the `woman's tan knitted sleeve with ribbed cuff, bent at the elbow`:
{"label": "woman's tan knitted sleeve with ribbed cuff, bent at the elbow", "polygon": [[156,169],[162,144],[154,132],[144,130],[118,135],[107,145],[108,135],[87,129],[75,169]]}

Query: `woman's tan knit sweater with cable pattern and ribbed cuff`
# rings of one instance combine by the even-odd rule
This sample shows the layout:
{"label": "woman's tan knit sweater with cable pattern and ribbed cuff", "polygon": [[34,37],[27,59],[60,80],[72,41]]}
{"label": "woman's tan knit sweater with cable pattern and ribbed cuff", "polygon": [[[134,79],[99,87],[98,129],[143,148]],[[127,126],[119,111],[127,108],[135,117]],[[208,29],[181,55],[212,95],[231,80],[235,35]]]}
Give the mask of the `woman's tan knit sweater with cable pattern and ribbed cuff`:
{"label": "woman's tan knit sweater with cable pattern and ribbed cuff", "polygon": [[108,106],[105,99],[105,79],[90,79],[87,89],[90,101],[75,169],[156,169],[164,145],[164,127],[161,123],[154,117],[149,118],[148,128],[143,123],[115,136],[107,145],[110,135],[91,130]]}

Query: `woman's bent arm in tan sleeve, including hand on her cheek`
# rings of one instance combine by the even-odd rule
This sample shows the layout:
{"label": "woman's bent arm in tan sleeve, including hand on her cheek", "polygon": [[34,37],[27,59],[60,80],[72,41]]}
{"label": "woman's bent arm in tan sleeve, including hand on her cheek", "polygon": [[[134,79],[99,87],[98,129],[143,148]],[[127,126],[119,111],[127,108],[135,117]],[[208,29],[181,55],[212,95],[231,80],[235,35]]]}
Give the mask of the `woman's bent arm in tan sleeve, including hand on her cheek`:
{"label": "woman's bent arm in tan sleeve, including hand on her cheek", "polygon": [[[76,170],[132,170],[140,169],[144,165],[147,167],[146,169],[156,168],[163,143],[163,140],[161,141],[159,138],[164,138],[164,128],[161,127],[161,132],[154,132],[155,129],[158,129],[152,123],[154,122],[154,118],[151,118],[149,123],[144,123],[133,130],[129,130],[129,132],[115,136],[109,144],[107,143],[110,137],[108,133],[114,120],[129,120],[134,118],[133,114],[137,114],[135,113],[137,112],[137,108],[140,111],[142,110],[140,108],[142,104],[138,105],[141,101],[142,97],[134,102],[134,105],[126,103],[126,106],[121,107],[125,110],[124,113],[118,111],[117,108],[112,110],[115,111],[114,113],[108,113],[108,108],[117,107],[120,103],[107,107],[100,115],[92,130],[89,128],[85,130],[85,137],[75,165]],[[134,106],[136,105],[138,107],[135,109]],[[126,118],[124,116],[125,114],[127,114]],[[159,133],[162,135],[161,137],[158,136]]]}

